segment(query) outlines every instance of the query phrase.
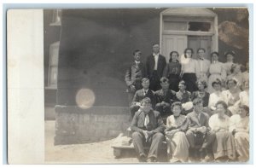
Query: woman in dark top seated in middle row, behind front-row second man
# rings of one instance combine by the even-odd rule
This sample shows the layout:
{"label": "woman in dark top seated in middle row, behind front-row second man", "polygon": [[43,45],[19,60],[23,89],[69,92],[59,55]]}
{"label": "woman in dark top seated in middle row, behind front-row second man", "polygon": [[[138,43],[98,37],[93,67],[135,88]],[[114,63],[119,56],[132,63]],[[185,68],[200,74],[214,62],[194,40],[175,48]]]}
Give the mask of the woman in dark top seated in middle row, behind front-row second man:
{"label": "woman in dark top seated in middle row, behind front-row second man", "polygon": [[203,101],[203,107],[208,107],[210,94],[205,90],[207,88],[207,82],[204,80],[198,80],[196,81],[196,85],[198,87],[198,90],[192,93],[192,101],[195,98],[201,98],[201,100]]}

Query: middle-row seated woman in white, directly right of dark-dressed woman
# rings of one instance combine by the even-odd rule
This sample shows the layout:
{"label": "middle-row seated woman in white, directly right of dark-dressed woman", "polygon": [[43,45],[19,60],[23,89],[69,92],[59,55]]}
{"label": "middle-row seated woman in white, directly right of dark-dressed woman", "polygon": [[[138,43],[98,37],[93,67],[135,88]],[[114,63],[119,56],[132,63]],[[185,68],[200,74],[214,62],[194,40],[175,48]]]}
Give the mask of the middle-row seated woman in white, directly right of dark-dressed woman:
{"label": "middle-row seated woman in white, directly right of dark-dressed woman", "polygon": [[210,94],[208,107],[214,112],[216,110],[215,104],[218,101],[224,101],[222,96],[221,81],[217,78],[212,82],[212,88],[214,92]]}

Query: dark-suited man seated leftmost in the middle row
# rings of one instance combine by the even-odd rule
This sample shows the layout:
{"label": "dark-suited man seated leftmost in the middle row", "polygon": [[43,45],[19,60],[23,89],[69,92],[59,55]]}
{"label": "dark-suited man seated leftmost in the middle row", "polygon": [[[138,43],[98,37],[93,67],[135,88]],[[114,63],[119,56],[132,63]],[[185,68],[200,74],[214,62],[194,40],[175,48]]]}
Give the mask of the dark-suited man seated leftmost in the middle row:
{"label": "dark-suited man seated leftmost in the middle row", "polygon": [[154,105],[155,105],[154,92],[152,90],[148,89],[149,88],[149,79],[143,78],[142,85],[143,85],[143,89],[136,91],[136,93],[133,97],[133,100],[131,102],[131,107],[130,107],[131,119],[133,118],[134,113],[136,113],[137,110],[140,108],[141,101],[143,100],[143,98],[148,97],[151,100],[152,107],[154,107]]}

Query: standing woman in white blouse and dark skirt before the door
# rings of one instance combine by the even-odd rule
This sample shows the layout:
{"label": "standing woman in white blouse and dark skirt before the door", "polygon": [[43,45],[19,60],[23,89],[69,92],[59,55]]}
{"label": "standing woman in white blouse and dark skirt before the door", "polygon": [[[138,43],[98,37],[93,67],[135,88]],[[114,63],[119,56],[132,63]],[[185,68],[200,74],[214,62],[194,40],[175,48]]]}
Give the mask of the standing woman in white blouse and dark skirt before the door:
{"label": "standing woman in white blouse and dark skirt before the door", "polygon": [[185,49],[184,55],[181,58],[181,65],[182,65],[182,79],[187,84],[187,90],[189,90],[190,93],[197,90],[197,86],[195,84],[196,82],[196,74],[199,74],[199,68],[195,61],[195,59],[192,58],[193,55],[193,49]]}

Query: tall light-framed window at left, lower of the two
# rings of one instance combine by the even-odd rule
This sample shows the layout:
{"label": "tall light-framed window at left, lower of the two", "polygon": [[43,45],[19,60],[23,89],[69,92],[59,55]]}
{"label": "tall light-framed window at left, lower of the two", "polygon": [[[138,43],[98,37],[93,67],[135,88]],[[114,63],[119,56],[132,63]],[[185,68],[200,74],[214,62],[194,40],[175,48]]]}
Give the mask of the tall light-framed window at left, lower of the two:
{"label": "tall light-framed window at left, lower of the two", "polygon": [[52,43],[49,46],[48,86],[50,88],[57,88],[59,47],[60,47],[60,41]]}

